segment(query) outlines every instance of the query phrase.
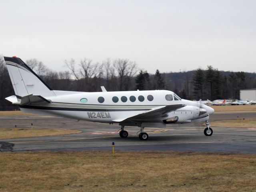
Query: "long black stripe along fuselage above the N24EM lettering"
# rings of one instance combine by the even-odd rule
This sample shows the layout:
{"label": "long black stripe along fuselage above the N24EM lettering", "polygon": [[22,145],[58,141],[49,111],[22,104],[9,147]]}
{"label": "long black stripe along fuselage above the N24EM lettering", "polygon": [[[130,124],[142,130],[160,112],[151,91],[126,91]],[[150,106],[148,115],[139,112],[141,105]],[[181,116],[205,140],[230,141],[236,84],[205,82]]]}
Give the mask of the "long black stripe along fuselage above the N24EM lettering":
{"label": "long black stripe along fuselage above the N24EM lettering", "polygon": [[57,111],[148,111],[151,109],[88,109],[88,108],[69,108],[69,107],[48,107],[48,106],[30,106],[24,105],[20,108],[26,109],[42,109],[42,110],[57,110]]}

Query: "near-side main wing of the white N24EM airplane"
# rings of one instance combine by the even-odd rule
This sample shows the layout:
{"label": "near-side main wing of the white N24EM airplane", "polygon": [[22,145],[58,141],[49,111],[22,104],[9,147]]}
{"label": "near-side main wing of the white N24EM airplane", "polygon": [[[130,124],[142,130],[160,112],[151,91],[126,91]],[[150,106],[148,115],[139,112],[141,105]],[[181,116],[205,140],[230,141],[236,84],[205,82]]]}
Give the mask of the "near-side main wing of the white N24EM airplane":
{"label": "near-side main wing of the white N24EM airplane", "polygon": [[116,119],[116,120],[113,120],[113,121],[114,122],[123,122],[123,121],[126,121],[126,120],[136,121],[136,119],[157,118],[157,117],[161,117],[163,114],[165,114],[167,112],[177,110],[177,109],[182,108],[184,106],[186,106],[186,105],[185,104],[174,104],[174,105],[159,106],[159,107],[152,108],[149,111],[137,114],[135,116],[130,116],[130,117],[122,118],[122,119]]}

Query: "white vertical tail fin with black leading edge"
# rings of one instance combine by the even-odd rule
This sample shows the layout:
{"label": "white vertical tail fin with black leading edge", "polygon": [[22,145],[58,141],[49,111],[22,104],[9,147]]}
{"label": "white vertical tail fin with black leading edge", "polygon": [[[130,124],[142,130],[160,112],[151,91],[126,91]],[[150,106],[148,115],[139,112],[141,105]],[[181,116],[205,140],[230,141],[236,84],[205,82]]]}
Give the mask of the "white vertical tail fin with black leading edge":
{"label": "white vertical tail fin with black leading edge", "polygon": [[20,58],[4,57],[14,92],[23,97],[29,94],[55,96],[53,90]]}

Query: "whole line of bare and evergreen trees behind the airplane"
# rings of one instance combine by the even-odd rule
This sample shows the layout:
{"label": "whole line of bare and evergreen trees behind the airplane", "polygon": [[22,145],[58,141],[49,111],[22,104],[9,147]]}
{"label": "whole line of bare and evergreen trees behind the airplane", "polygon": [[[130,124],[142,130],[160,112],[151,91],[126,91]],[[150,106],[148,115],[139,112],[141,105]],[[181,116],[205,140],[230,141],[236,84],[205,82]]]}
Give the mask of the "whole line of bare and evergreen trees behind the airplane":
{"label": "whole line of bare and evergreen trees behind the airplane", "polygon": [[[198,68],[187,72],[155,74],[139,70],[136,62],[129,59],[107,58],[101,63],[83,58],[64,60],[64,71],[55,72],[37,59],[26,60],[26,64],[53,90],[82,92],[128,90],[172,90],[189,100],[239,99],[240,89],[256,88],[256,74],[246,72],[223,72],[212,66],[206,70]],[[0,56],[0,106],[11,106],[4,98],[14,95],[14,90]]]}

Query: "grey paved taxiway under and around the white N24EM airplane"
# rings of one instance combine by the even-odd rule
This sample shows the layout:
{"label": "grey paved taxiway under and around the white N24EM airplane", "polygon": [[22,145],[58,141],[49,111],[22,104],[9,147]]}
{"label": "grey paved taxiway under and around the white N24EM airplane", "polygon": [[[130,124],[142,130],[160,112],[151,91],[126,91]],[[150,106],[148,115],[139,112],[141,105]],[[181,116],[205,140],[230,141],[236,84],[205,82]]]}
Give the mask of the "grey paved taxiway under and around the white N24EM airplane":
{"label": "grey paved taxiway under and around the white N24EM airplane", "polygon": [[[213,114],[214,120],[256,118],[256,113]],[[0,128],[68,128],[82,131],[80,134],[44,136],[34,138],[0,139],[0,151],[38,150],[172,150],[204,152],[240,152],[256,154],[256,126],[253,128],[213,128],[212,136],[204,136],[205,126],[200,124],[172,124],[166,128],[145,128],[147,141],[139,140],[138,127],[125,127],[128,138],[120,138],[120,126],[44,116],[1,116]]]}

